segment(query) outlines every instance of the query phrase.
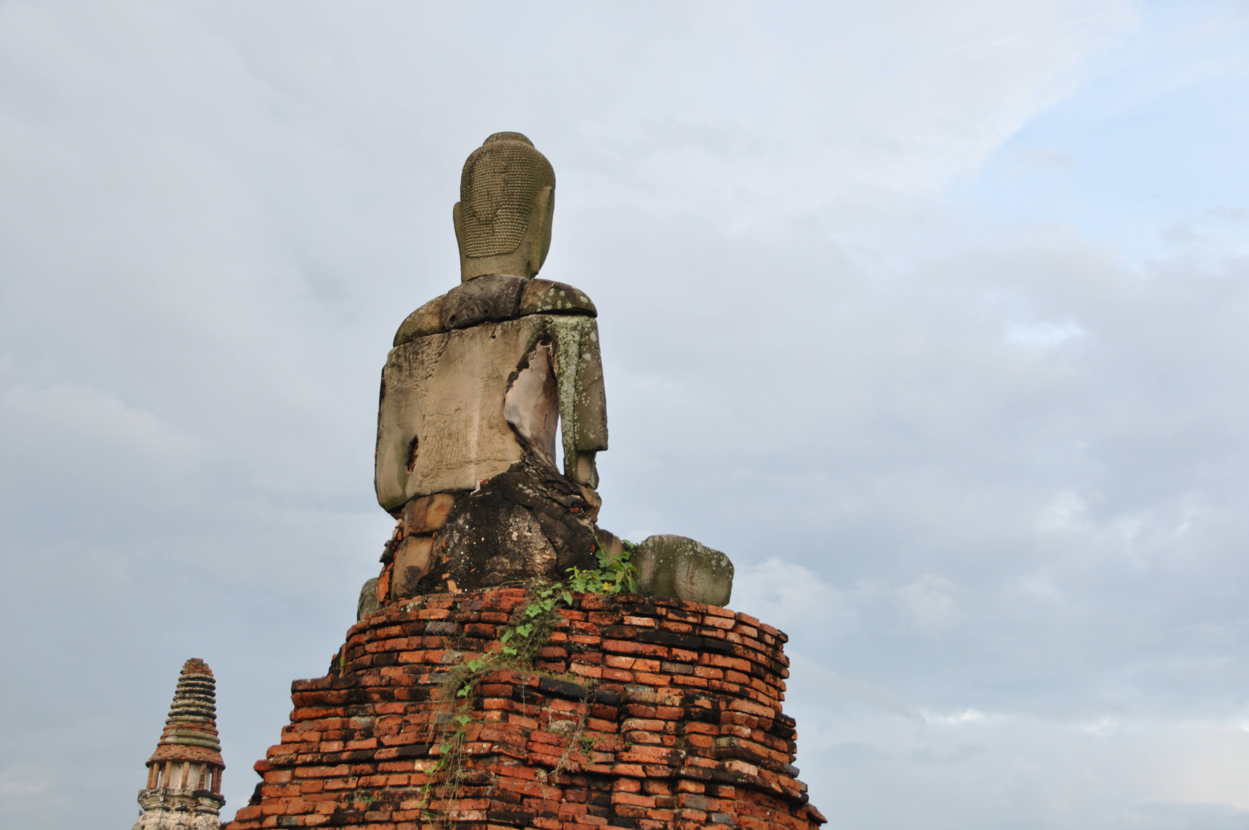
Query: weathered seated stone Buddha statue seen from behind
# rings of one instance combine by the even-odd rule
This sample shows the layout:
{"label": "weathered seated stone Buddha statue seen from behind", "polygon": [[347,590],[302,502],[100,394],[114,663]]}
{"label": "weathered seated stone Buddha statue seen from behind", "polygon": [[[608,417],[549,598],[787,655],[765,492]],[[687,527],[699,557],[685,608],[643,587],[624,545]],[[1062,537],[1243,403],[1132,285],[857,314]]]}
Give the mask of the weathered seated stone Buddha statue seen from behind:
{"label": "weathered seated stone Buddha statue seen from behind", "polygon": [[555,171],[527,138],[496,132],[468,156],[452,210],[461,282],[403,320],[382,369],[375,484],[398,525],[380,602],[560,579],[613,539],[595,526],[597,310],[537,279],[553,214]]}

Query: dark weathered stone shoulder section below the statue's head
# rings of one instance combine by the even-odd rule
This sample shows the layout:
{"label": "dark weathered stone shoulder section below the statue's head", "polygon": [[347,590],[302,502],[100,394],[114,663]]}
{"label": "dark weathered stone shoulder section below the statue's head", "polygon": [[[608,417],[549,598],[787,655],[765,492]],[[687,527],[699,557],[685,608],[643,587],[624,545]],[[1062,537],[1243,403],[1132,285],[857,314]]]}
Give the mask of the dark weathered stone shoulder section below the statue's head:
{"label": "dark weathered stone shoulder section below the statue's head", "polygon": [[585,291],[566,282],[487,274],[461,282],[407,315],[395,332],[393,345],[401,346],[417,338],[531,314],[597,318],[598,309]]}

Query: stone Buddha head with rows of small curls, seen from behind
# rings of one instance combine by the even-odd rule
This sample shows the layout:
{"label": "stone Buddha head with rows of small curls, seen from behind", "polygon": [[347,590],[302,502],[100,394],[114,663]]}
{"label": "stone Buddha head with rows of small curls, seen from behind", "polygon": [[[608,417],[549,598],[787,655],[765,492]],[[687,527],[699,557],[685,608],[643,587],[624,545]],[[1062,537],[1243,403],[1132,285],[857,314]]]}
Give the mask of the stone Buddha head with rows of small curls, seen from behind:
{"label": "stone Buddha head with rows of small curls, seen from behind", "polygon": [[496,132],[473,150],[452,210],[460,279],[531,278],[551,249],[555,170],[520,132]]}

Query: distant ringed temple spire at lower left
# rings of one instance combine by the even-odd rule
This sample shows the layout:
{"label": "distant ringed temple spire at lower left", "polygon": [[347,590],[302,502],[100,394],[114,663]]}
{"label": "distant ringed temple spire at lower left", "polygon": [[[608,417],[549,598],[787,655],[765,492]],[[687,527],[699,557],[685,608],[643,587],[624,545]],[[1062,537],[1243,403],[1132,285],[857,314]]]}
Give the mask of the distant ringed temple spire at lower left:
{"label": "distant ringed temple spire at lower left", "polygon": [[165,731],[147,759],[147,789],[139,792],[144,812],[132,830],[219,830],[225,768],[216,680],[204,660],[192,658],[182,665]]}

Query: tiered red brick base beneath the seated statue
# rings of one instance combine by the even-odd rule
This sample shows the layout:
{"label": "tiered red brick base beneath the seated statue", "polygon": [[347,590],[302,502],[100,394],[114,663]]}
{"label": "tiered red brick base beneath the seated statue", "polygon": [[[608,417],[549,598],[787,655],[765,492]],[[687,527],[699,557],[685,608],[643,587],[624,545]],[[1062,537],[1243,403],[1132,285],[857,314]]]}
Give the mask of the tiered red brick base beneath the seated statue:
{"label": "tiered red brick base beneath the seated statue", "polygon": [[[291,685],[281,744],[230,830],[816,830],[781,712],[784,634],[744,614],[576,599],[532,672],[482,679],[455,800],[422,788],[451,729],[450,666],[497,650],[525,591],[395,602],[347,632],[341,674]],[[336,661],[337,662],[337,661]]]}

